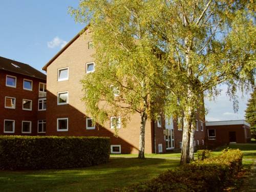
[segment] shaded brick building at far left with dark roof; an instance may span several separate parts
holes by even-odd
[[[45,135],[46,75],[0,57],[0,135]]]

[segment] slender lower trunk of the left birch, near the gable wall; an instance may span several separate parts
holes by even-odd
[[[145,111],[143,111],[140,115],[141,121],[140,121],[140,143],[139,143],[139,155],[138,158],[143,159],[145,158],[145,125],[147,120],[147,114]]]

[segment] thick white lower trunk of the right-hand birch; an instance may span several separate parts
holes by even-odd
[[[181,157],[180,165],[189,163],[189,141],[190,141],[190,129],[189,121],[187,118],[184,118],[184,127],[182,134],[182,147],[181,147]]]

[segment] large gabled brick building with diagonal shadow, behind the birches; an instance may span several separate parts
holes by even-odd
[[[126,127],[119,124],[118,137],[114,137],[112,121],[122,117],[109,117],[104,124],[92,125],[92,119],[84,113],[86,106],[80,80],[94,71],[91,32],[77,34],[43,68],[47,71],[48,110],[47,135],[57,136],[106,136],[111,138],[112,153],[137,153],[139,146],[140,115],[133,114]],[[166,123],[169,122],[169,123]],[[180,123],[181,124],[181,123]],[[198,119],[196,145],[204,144],[204,119]],[[148,119],[145,127],[145,153],[164,153],[180,148],[182,126],[173,119]]]

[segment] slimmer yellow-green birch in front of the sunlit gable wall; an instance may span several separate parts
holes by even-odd
[[[152,53],[143,8],[140,1],[81,1],[72,10],[77,20],[90,22],[93,32],[96,68],[82,80],[87,113],[94,123],[121,116],[124,126],[139,113],[139,158],[144,158],[146,121],[157,118],[165,94],[155,86],[163,78],[162,61]]]

